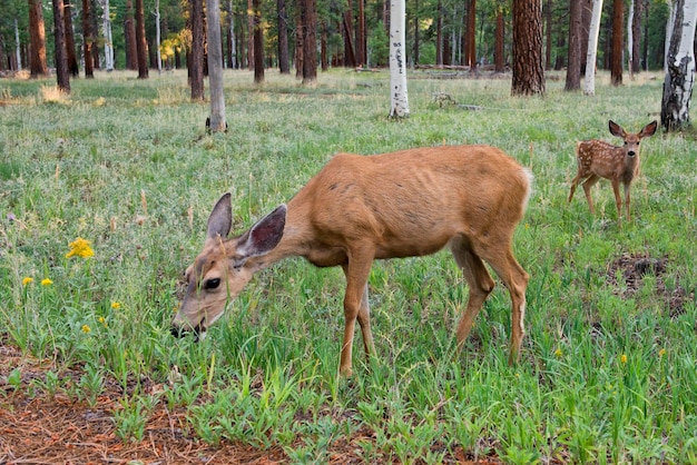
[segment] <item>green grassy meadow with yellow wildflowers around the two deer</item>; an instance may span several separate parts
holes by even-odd
[[[567,202],[576,140],[619,145],[608,119],[628,131],[659,119],[662,76],[612,88],[600,75],[585,97],[559,75],[543,98],[513,98],[508,79],[413,71],[411,117],[394,121],[386,71],[334,70],[312,89],[226,72],[229,130],[215,135],[184,71],[98,73],[69,97],[52,80],[0,79],[0,345],[52,360],[30,380],[11,367],[0,405],[13,389],[94,405],[115,382],[124,442],[144,439],[164,406],[186,412],[189,437],[281,447],[291,463],[327,463],[346,443],[364,463],[697,463],[694,133],[642,141],[631,222],[618,227],[607,180],[596,216],[581,188]],[[375,263],[377,356],[365,359],[357,332],[351,379],[337,375],[343,274],[302,259],[259,274],[204,343],[170,335],[222,194],[240,233],[336,152],[463,142],[534,174],[513,246],[531,276],[517,366],[498,280],[455,353],[467,286],[448,251]]]

